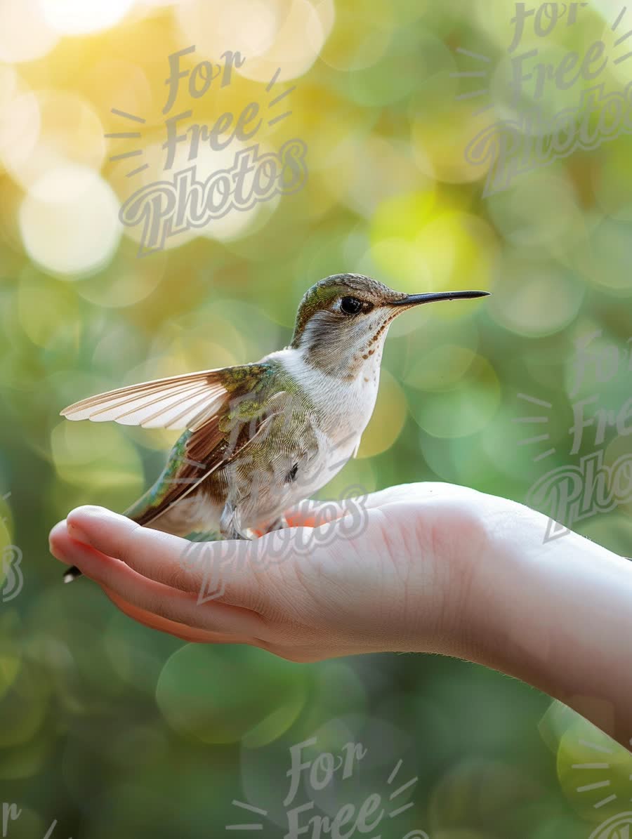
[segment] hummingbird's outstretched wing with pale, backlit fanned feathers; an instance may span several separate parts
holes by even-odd
[[[233,376],[250,378],[246,371],[252,367],[261,365],[203,370],[117,388],[81,399],[61,411],[61,416],[143,428],[190,428],[212,417],[226,399]]]

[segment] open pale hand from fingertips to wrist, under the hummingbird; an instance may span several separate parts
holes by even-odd
[[[222,569],[223,593],[209,602],[198,602],[204,565],[183,561],[191,542],[104,508],[73,510],[51,531],[50,550],[131,618],[186,641],[253,644],[303,662],[377,651],[467,655],[473,569],[491,548],[494,522],[498,529],[526,508],[446,483],[390,487],[363,507],[351,538],[348,505],[309,502],[288,513],[290,533],[203,543]],[[317,534],[306,531],[315,524]],[[262,564],[267,553],[279,559]]]

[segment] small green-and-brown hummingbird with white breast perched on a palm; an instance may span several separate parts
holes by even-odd
[[[287,526],[285,511],[358,453],[392,321],[420,304],[487,294],[404,294],[362,274],[333,274],[304,294],[288,347],[100,393],[61,416],[182,430],[158,480],[123,514],[177,536],[250,539]],[[80,574],[71,568],[64,580]]]

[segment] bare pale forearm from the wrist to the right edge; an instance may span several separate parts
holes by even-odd
[[[473,571],[467,657],[556,697],[629,748],[632,565],[577,534],[545,543],[537,516],[500,534]]]

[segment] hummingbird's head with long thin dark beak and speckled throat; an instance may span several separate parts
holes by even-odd
[[[365,364],[379,366],[384,339],[397,315],[421,303],[484,297],[487,291],[403,294],[362,274],[333,274],[307,289],[290,347],[313,367],[355,378]]]

